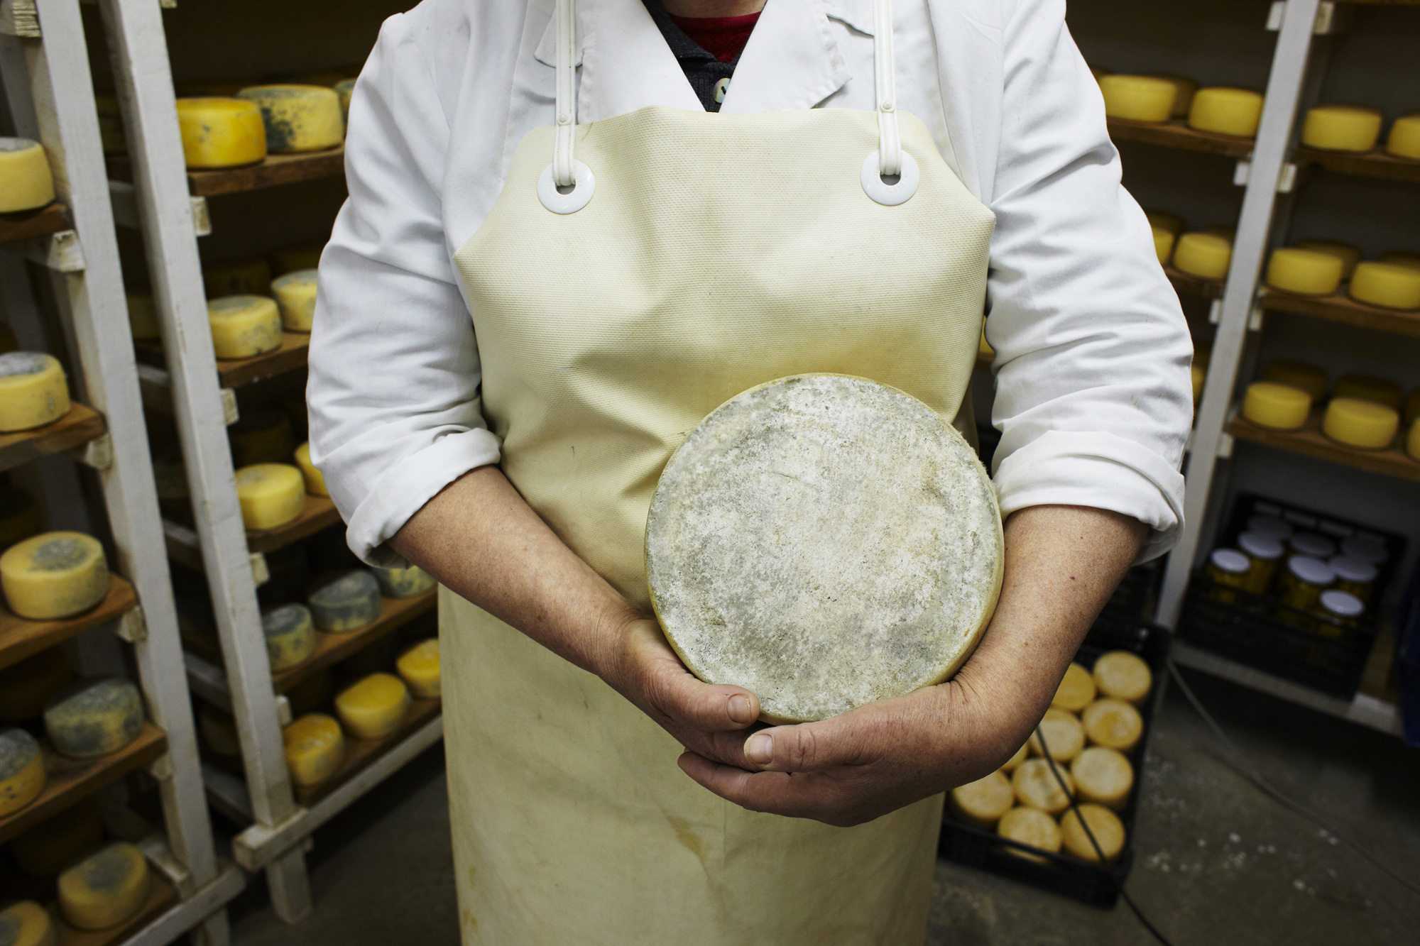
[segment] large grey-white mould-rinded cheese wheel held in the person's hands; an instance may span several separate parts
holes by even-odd
[[[716,408],[660,474],[652,604],[707,682],[765,722],[825,719],[950,676],[1001,585],[1001,517],[976,452],[927,405],[795,375]]]

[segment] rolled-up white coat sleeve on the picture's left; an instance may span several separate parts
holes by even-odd
[[[321,256],[307,403],[311,460],[375,565],[383,543],[463,473],[498,462],[479,349],[449,260],[440,182],[449,121],[403,16],[351,99],[349,199]]]

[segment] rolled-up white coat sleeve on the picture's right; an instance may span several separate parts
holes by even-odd
[[[1133,516],[1150,528],[1143,561],[1167,551],[1183,521],[1189,327],[1120,185],[1064,0],[1022,0],[1003,65],[985,322],[1001,513],[1069,504]]]

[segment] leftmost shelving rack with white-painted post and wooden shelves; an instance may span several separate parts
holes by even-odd
[[[95,470],[115,572],[106,598],[77,618],[0,614],[0,666],[91,628],[112,628],[132,646],[151,720],[133,743],[101,759],[47,757],[44,793],[0,820],[0,841],[146,770],[165,818],[165,831],[141,841],[155,868],[155,893],[138,916],[85,935],[85,942],[158,946],[192,932],[197,942],[220,946],[227,942],[226,903],[246,879],[216,857],[203,798],[78,0],[3,0],[0,77],[16,132],[45,146],[58,192],[50,207],[0,220],[0,291],[16,335],[43,349],[34,264],[53,288],[65,357],[78,368],[71,371],[70,415],[0,436],[0,469],[48,463],[45,457],[67,452]],[[51,517],[85,516],[71,464],[48,463],[44,479]]]

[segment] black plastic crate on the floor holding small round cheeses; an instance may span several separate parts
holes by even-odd
[[[991,831],[954,821],[950,808],[941,817],[941,837],[937,842],[939,857],[1030,884],[1091,906],[1106,909],[1115,906],[1119,901],[1119,888],[1129,876],[1135,862],[1135,817],[1139,812],[1139,795],[1143,790],[1145,754],[1149,736],[1153,733],[1154,707],[1159,705],[1159,693],[1167,673],[1169,631],[1149,624],[1136,624],[1125,631],[1108,624],[1096,624],[1076,652],[1075,660],[1092,668],[1099,655],[1106,651],[1137,653],[1149,663],[1154,680],[1149,699],[1139,707],[1145,723],[1143,736],[1139,737],[1139,744],[1126,753],[1129,763],[1135,767],[1135,790],[1129,794],[1125,810],[1119,812],[1119,820],[1125,825],[1125,847],[1119,852],[1119,858],[1113,864],[1099,865],[1068,854],[1049,854],[1039,848],[1008,841]],[[1008,848],[1042,858],[1044,862],[1017,857]]]

